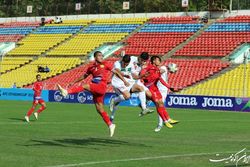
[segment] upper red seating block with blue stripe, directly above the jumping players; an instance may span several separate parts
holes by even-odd
[[[187,20],[182,23],[176,21],[181,18]],[[202,26],[202,24],[193,23],[191,17],[152,18],[150,23],[144,24],[139,32],[127,39],[127,46],[121,50],[131,55],[139,55],[141,52],[164,55],[192,36]],[[119,54],[121,50],[116,54]]]

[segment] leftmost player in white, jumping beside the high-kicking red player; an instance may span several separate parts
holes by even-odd
[[[137,84],[137,81],[133,78],[132,74],[134,69],[134,63],[131,62],[131,57],[129,55],[124,55],[122,60],[116,61],[114,64],[114,69],[121,72],[125,80],[129,83],[130,86],[125,86],[124,82],[118,78],[116,75],[112,77],[111,84],[118,95],[115,98],[112,98],[110,101],[110,111],[111,111],[111,120],[113,121],[115,116],[115,111],[120,102],[127,100],[131,97],[131,93],[138,92],[139,99],[141,101],[141,106],[143,112],[151,112],[146,107],[146,92],[143,85]]]

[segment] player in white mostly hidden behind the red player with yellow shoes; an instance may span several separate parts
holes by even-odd
[[[161,78],[165,81],[168,82],[168,69],[165,65],[160,67],[160,72],[161,72]],[[164,85],[162,85],[162,83],[160,81],[158,81],[157,83],[157,87],[159,89],[159,91],[161,92],[162,95],[162,101],[165,104],[166,102],[166,98],[168,95],[168,88],[165,87]],[[158,122],[158,126],[155,128],[155,132],[159,132],[163,126],[163,120],[161,119],[160,116],[158,116],[159,118],[159,122]]]

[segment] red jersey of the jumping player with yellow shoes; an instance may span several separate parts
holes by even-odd
[[[143,78],[144,85],[146,87],[150,87],[152,85],[157,85],[157,82],[160,81],[164,86],[167,88],[170,88],[170,85],[167,84],[162,78],[161,78],[161,72],[160,69],[152,64],[148,64],[148,66],[144,69],[142,69],[141,74],[149,73],[149,75],[145,76]]]

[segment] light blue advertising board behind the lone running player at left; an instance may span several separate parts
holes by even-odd
[[[0,89],[0,100],[33,100],[34,91],[31,89],[19,89],[19,88],[3,88]],[[44,101],[49,101],[49,91],[42,91],[42,98]]]

